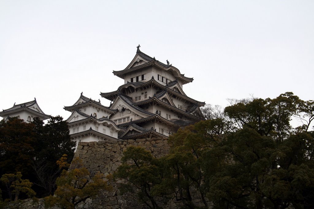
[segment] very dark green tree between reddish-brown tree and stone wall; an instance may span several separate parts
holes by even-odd
[[[36,174],[35,185],[41,190],[42,196],[53,194],[56,190],[56,180],[61,169],[56,161],[67,155],[68,163],[74,156],[75,143],[70,140],[66,121],[60,116],[51,117],[46,125],[39,118],[34,118],[36,144],[34,144],[35,157],[32,168]]]

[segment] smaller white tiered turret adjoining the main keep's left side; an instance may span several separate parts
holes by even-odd
[[[78,142],[106,141],[118,139],[124,129],[118,128],[109,117],[116,110],[109,109],[91,98],[83,96],[72,106],[64,107],[72,112],[67,119],[71,140]]]

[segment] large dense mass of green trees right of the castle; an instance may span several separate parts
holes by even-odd
[[[127,171],[118,175],[126,180],[124,187],[149,182],[151,190],[163,188],[187,208],[208,208],[209,202],[213,208],[314,208],[313,101],[286,92],[274,99],[231,101],[224,110],[208,106],[203,111],[208,120],[169,138],[171,150],[162,164],[147,154],[149,163],[140,166],[147,172],[141,174],[149,175],[152,165],[156,174],[163,171],[155,184],[147,178],[135,182],[133,170],[138,166],[127,158],[131,161],[124,161],[118,171]],[[293,128],[292,118],[303,125]],[[194,202],[193,189],[201,204]]]

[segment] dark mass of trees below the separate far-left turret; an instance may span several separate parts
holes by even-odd
[[[20,172],[33,183],[38,197],[52,194],[60,175],[56,161],[63,154],[73,158],[75,142],[70,140],[67,123],[51,117],[48,123],[39,118],[25,123],[19,118],[0,122],[0,176]],[[3,188],[3,185],[2,187]],[[3,197],[8,194],[3,190]]]

